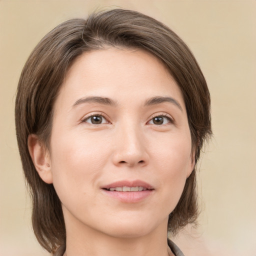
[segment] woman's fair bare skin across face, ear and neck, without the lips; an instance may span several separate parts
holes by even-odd
[[[88,96],[114,104],[84,102]],[[175,101],[145,104],[159,96]],[[95,115],[101,123],[93,123]],[[43,150],[33,134],[28,146],[62,203],[66,255],[173,255],[168,214],[194,161],[182,94],[157,58],[111,47],[83,53],[57,96],[50,148]],[[139,201],[123,202],[102,189],[137,179],[153,187]]]

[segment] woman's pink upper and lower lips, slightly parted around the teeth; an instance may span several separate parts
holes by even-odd
[[[134,192],[123,192],[123,191],[110,191],[107,190],[110,187],[117,187],[117,186],[143,186],[147,190],[142,191],[134,191]],[[116,200],[119,200],[120,202],[125,203],[135,203],[140,202],[146,199],[148,196],[150,196],[154,192],[154,188],[152,185],[148,184],[147,182],[144,182],[142,180],[120,180],[116,181],[110,184],[103,185],[101,188],[101,191]]]

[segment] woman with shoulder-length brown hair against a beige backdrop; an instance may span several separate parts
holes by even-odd
[[[185,43],[113,9],[50,31],[22,70],[15,122],[39,243],[54,255],[183,255],[195,165],[211,134],[205,79]]]

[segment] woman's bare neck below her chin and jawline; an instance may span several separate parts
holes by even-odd
[[[167,223],[136,236],[113,236],[80,223],[66,223],[66,251],[64,256],[172,256],[167,245]]]

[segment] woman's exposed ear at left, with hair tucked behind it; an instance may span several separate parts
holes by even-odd
[[[35,134],[28,135],[27,146],[37,173],[44,182],[51,184],[52,172],[48,150]]]

